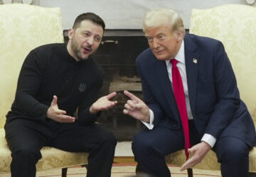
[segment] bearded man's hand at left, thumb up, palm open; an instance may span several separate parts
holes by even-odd
[[[53,101],[50,103],[50,108],[48,108],[46,117],[57,122],[75,122],[75,118],[69,115],[65,115],[65,110],[60,110],[57,104],[57,96],[53,96]]]

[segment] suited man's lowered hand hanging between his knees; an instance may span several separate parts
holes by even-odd
[[[190,154],[193,154],[193,156],[191,157],[191,159],[188,159],[188,161],[186,161],[183,166],[181,166],[181,171],[195,166],[196,164],[201,162],[203,160],[203,157],[206,156],[210,149],[210,145],[206,142],[198,143],[195,146],[191,147],[191,149],[188,149],[188,152]]]

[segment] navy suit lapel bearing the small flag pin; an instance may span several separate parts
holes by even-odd
[[[196,44],[191,38],[184,38],[185,44],[185,60],[186,60],[186,76],[188,82],[188,96],[192,113],[196,109],[196,86],[198,81],[198,64],[199,55],[196,53]]]

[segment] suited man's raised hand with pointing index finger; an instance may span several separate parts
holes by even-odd
[[[124,114],[128,114],[137,120],[142,120],[144,122],[149,122],[149,107],[137,96],[134,96],[129,91],[124,91],[124,94],[131,98],[124,105]]]

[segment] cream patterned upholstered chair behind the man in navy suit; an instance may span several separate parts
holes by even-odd
[[[205,10],[193,9],[190,33],[223,42],[238,80],[240,97],[245,101],[256,125],[256,8],[228,4]],[[170,164],[180,166],[183,152],[166,156]],[[219,170],[213,152],[194,166],[195,169]],[[250,175],[256,175],[256,147],[250,151]]]

